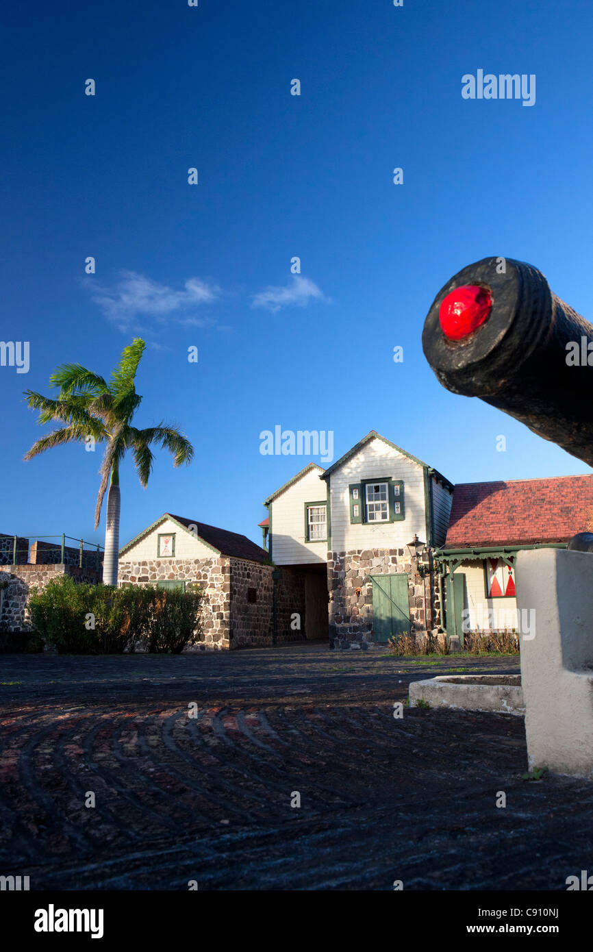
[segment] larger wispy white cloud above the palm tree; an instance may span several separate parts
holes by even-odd
[[[200,278],[188,278],[183,289],[176,290],[136,271],[122,271],[120,280],[110,288],[93,283],[91,297],[109,321],[128,330],[138,318],[152,318],[158,324],[173,321],[210,327],[214,321],[190,312],[216,301],[219,294],[219,288]]]

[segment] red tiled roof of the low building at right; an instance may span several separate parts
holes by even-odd
[[[567,542],[592,518],[593,475],[460,483],[444,548]]]

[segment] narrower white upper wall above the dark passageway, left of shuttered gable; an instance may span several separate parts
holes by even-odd
[[[270,504],[272,559],[276,565],[326,562],[327,542],[305,541],[305,504],[326,499],[320,470],[312,469]]]

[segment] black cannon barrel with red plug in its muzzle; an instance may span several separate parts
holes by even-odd
[[[472,295],[478,304],[464,311]],[[464,325],[467,310],[480,316]],[[480,397],[593,466],[593,326],[537,268],[499,257],[459,271],[434,299],[422,343],[447,390]]]

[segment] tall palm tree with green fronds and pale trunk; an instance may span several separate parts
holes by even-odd
[[[37,440],[25,455],[26,460],[65,443],[88,444],[91,439],[94,443],[106,445],[99,470],[101,485],[95,506],[95,529],[99,526],[101,507],[109,486],[103,563],[103,581],[107,585],[117,585],[119,467],[126,451],[132,450],[138,478],[145,487],[154,462],[150,446],[163,446],[173,453],[173,466],[190,463],[193,456],[193,446],[176,426],[160,423],[137,429],[131,425],[142,401],[136,393],[134,379],[145,347],[144,341],[136,337],[129,347],[124,348],[109,384],[80,364],[63,364],[49,377],[50,386],[60,388],[57,398],[44,397],[33,390],[25,391],[31,409],[39,410],[39,424],[51,421],[66,424]]]

